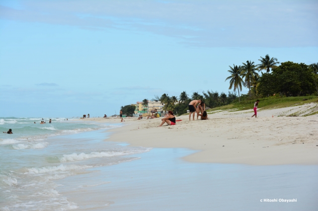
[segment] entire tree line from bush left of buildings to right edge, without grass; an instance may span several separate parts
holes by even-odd
[[[268,97],[274,94],[279,94],[281,97],[290,96],[306,96],[318,94],[318,63],[306,65],[304,63],[294,63],[291,61],[280,63],[277,58],[270,57],[268,54],[265,57],[258,59],[259,64],[254,61],[247,60],[242,65],[229,66],[230,76],[225,81],[230,80],[228,95],[224,92],[220,94],[216,91],[207,90],[199,94],[192,93],[189,96],[183,91],[179,97],[168,96],[163,94],[160,97],[155,96],[152,101],[160,101],[164,104],[162,110],[171,110],[174,113],[181,115],[186,113],[188,105],[192,100],[201,99],[206,107],[217,107],[240,102],[240,91],[242,87],[248,89],[249,99]],[[278,64],[280,64],[278,66]],[[264,73],[262,71],[265,71]],[[237,96],[238,91],[239,96]],[[148,106],[148,100],[143,100],[143,105]],[[124,114],[133,113],[136,106],[122,106]]]

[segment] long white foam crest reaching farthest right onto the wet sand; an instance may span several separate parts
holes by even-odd
[[[76,154],[73,153],[71,155],[63,155],[62,158],[60,158],[61,162],[67,162],[67,161],[75,161],[75,160],[83,160],[83,159],[89,159],[89,158],[103,158],[103,157],[114,157],[114,156],[126,156],[126,155],[132,155],[137,153],[145,153],[149,152],[150,148],[140,148],[135,149],[131,151],[120,151],[120,152],[92,152],[89,154],[80,153]]]

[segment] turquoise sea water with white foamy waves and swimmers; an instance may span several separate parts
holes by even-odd
[[[0,117],[0,210],[76,209],[56,190],[58,180],[150,151],[104,142],[105,130],[121,124],[65,119]],[[13,134],[2,133],[8,129]]]

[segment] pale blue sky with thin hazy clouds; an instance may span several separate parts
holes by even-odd
[[[317,0],[0,0],[0,117],[227,94],[229,65],[318,62],[317,11]]]

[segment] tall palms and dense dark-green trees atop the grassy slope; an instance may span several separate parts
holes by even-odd
[[[229,89],[239,93],[244,86],[248,88],[249,98],[252,95],[257,98],[274,94],[282,97],[318,94],[318,63],[306,65],[287,61],[280,64],[277,58],[270,58],[268,54],[258,60],[260,64],[257,65],[254,61],[246,61],[239,66],[229,66],[231,75],[225,80],[230,80]]]

